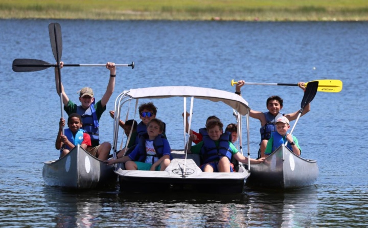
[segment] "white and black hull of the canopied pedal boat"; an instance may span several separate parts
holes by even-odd
[[[185,168],[184,168],[185,167]],[[174,158],[165,171],[124,170],[119,164],[120,190],[124,192],[157,192],[190,190],[208,193],[241,193],[249,176],[243,166],[235,173],[202,172],[193,159]]]

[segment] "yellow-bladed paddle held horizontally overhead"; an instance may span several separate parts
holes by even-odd
[[[319,92],[330,92],[330,93],[338,93],[342,89],[342,81],[336,79],[321,79],[321,80],[314,80],[305,83],[305,86],[308,87],[308,84],[311,82],[318,82],[318,89]],[[234,79],[231,81],[231,85],[234,86],[238,84],[237,81]],[[259,82],[245,82],[245,85],[288,85],[288,86],[297,86],[297,84],[287,84],[287,83],[259,83]]]

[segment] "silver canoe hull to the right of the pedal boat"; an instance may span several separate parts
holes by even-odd
[[[247,184],[272,189],[300,189],[314,185],[317,177],[315,160],[297,156],[282,145],[263,163],[250,166]]]

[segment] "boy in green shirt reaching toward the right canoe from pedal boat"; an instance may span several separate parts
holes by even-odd
[[[222,133],[223,124],[218,120],[212,120],[206,124],[208,136],[203,136],[203,141],[192,146],[191,152],[200,154],[202,158],[201,170],[203,172],[233,172],[230,165],[232,157],[241,163],[247,163],[248,158],[228,141],[229,132]],[[262,163],[264,158],[258,160],[250,158],[250,164]]]

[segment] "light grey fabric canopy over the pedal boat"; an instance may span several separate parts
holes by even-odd
[[[170,98],[170,97],[194,97],[196,99],[210,100],[213,102],[223,102],[241,115],[247,115],[250,108],[241,96],[224,90],[203,88],[195,86],[158,86],[147,88],[136,88],[124,91],[124,96],[132,99],[141,98]]]

